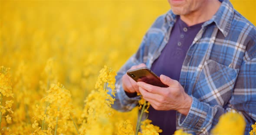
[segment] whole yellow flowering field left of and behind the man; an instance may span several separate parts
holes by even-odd
[[[232,3],[256,25],[255,0]],[[130,125],[135,130],[138,107],[126,113],[111,109],[104,102],[109,97],[94,94],[104,83],[95,84],[101,69],[115,75],[168,10],[167,0],[1,0],[0,133],[118,134]]]

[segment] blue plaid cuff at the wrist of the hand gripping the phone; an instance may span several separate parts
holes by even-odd
[[[208,104],[200,102],[197,98],[192,97],[192,105],[187,116],[181,113],[177,114],[178,125],[193,131],[203,132],[205,130],[205,125],[207,121],[212,120],[211,118],[211,108]]]

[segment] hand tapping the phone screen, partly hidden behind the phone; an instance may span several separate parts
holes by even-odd
[[[139,65],[132,66],[129,70],[136,69],[139,67],[146,67],[146,64],[142,63]],[[137,82],[135,80],[131,79],[131,77],[129,77],[127,74],[123,75],[122,83],[123,83],[123,88],[127,93],[130,93],[130,94],[140,93]]]

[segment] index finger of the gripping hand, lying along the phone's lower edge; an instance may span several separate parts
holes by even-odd
[[[143,89],[147,90],[150,93],[155,93],[155,94],[160,94],[160,95],[166,94],[165,89],[167,89],[167,88],[154,86],[154,85],[151,85],[151,84],[144,83],[142,81],[137,82],[137,85],[139,87],[142,87]]]

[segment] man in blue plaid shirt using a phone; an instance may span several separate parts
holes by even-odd
[[[168,0],[137,53],[116,77],[115,109],[129,111],[141,93],[148,119],[163,134],[177,129],[209,134],[228,109],[256,121],[256,28],[228,0]],[[126,71],[151,68],[169,87],[136,83]],[[177,115],[176,115],[177,113]],[[236,127],[234,127],[236,128]]]

